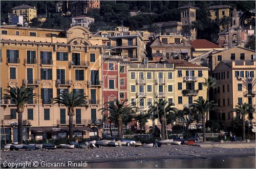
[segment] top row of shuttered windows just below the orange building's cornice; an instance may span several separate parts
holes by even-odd
[[[8,63],[17,63],[15,62],[19,58],[19,50],[6,50]],[[56,53],[57,61],[68,61],[68,52],[57,52]],[[80,53],[72,53],[72,61],[74,65],[80,65]],[[35,64],[36,59],[36,51],[27,50],[27,63]],[[40,59],[42,64],[50,64],[49,62],[52,60],[52,52],[51,51],[40,51]],[[96,54],[90,53],[90,62],[96,61]]]

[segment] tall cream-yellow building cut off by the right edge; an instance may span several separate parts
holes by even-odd
[[[238,103],[248,103],[256,108],[255,101],[255,60],[221,61],[212,75],[217,78],[219,88],[214,91],[214,100],[219,104],[220,111],[212,116],[222,120],[225,126],[237,117],[230,112]],[[255,114],[250,120],[255,132]]]

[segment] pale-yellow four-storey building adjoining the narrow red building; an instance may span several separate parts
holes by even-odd
[[[130,64],[127,75],[128,100],[142,113],[158,99],[165,99],[183,109],[199,97],[206,98],[206,88],[202,85],[204,77],[208,77],[207,67],[184,61],[134,62]],[[152,121],[149,120],[147,125],[151,126]]]

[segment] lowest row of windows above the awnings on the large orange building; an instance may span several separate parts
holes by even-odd
[[[10,109],[12,119],[17,119],[16,108]],[[34,109],[28,108],[28,120],[34,120]],[[76,124],[81,124],[81,109],[76,108]],[[50,108],[44,109],[44,120],[50,120]],[[96,120],[96,109],[91,109],[91,120]],[[66,109],[60,108],[60,124],[66,124]]]

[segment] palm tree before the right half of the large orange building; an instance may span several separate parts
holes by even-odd
[[[53,104],[63,104],[68,108],[69,116],[69,138],[73,138],[73,117],[75,116],[75,107],[84,104],[86,96],[79,92],[60,92],[57,97],[53,98]]]

